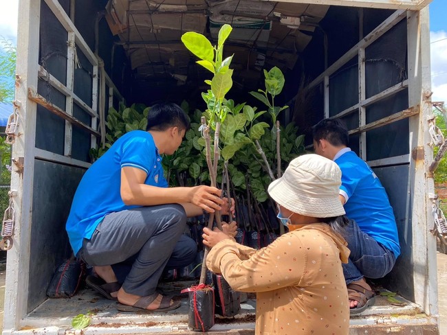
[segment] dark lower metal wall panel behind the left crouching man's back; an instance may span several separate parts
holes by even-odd
[[[28,312],[46,298],[56,267],[70,257],[65,221],[85,170],[34,161]]]

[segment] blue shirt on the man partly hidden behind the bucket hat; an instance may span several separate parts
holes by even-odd
[[[346,216],[377,242],[400,255],[393,208],[386,191],[371,167],[355,152],[344,152],[334,160],[342,170],[340,194],[347,198]]]

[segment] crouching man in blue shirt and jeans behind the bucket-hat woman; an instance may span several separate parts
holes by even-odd
[[[312,128],[316,154],[331,159],[342,171],[340,201],[350,223],[342,235],[351,250],[342,264],[351,314],[373,305],[374,292],[364,277],[382,278],[400,255],[393,209],[371,167],[348,147],[348,130],[339,119],[323,119]]]

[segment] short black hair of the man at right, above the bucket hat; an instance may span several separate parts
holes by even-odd
[[[349,146],[348,129],[340,119],[323,119],[312,127],[312,137],[318,142],[325,139],[332,146]]]

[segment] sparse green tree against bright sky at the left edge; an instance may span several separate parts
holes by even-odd
[[[11,41],[0,40],[0,102],[14,100],[14,76],[17,49]]]

